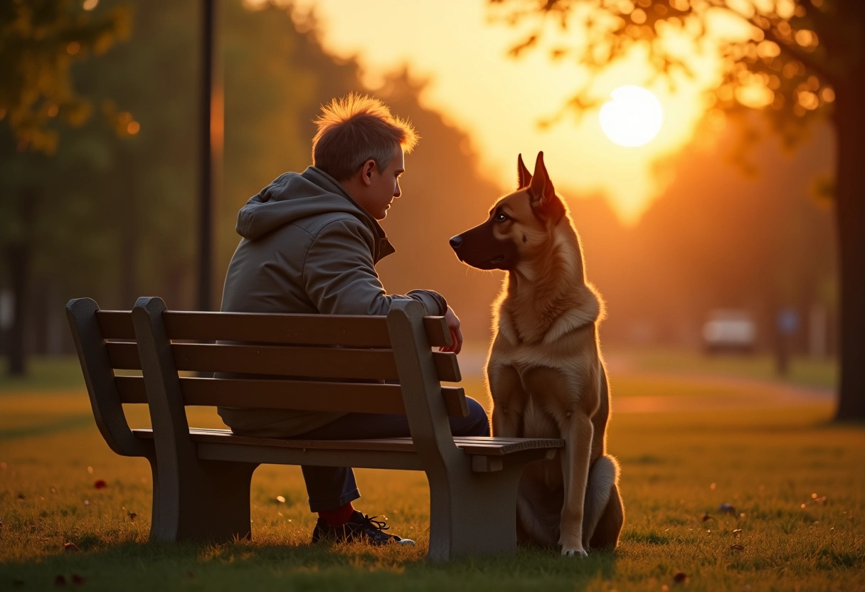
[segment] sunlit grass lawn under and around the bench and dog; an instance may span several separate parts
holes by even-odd
[[[641,389],[619,378],[631,396]],[[413,549],[311,547],[300,472],[274,466],[253,477],[252,541],[147,544],[146,461],[108,449],[83,388],[41,380],[0,385],[0,589],[54,589],[58,576],[74,588],[77,576],[94,590],[865,591],[865,428],[830,425],[829,402],[615,415],[609,447],[626,509],[617,551],[430,564],[426,478],[413,472],[357,472],[357,506],[415,538]],[[467,388],[485,400],[482,383]],[[146,409],[130,415],[147,423]],[[219,423],[202,411],[190,422]]]

